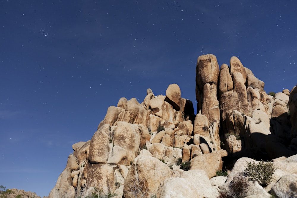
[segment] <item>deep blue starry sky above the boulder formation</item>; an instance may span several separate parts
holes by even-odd
[[[72,144],[121,97],[177,83],[196,109],[198,56],[237,56],[265,91],[297,83],[296,1],[0,1],[0,185],[47,196]]]

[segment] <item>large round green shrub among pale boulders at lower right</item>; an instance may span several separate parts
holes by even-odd
[[[257,164],[248,162],[244,172],[251,180],[257,181],[261,186],[266,187],[274,178],[273,173],[275,170],[273,162],[261,160]]]

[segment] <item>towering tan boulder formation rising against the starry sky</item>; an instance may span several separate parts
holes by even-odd
[[[268,95],[237,57],[219,67],[208,54],[197,60],[196,100],[195,115],[176,84],[165,96],[148,89],[141,103],[121,98],[91,140],[72,145],[49,197],[96,189],[126,198],[217,197],[251,158],[273,160],[277,170],[266,188],[249,185],[249,196],[288,194],[297,182],[297,88]],[[176,165],[179,158],[191,162],[189,171]],[[228,177],[214,177],[223,168]]]

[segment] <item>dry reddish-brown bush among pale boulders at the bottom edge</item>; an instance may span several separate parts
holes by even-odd
[[[228,189],[219,192],[219,198],[244,198],[247,196],[247,187],[247,178],[240,174],[230,182]]]

